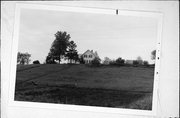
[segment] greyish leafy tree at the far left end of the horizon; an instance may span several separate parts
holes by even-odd
[[[18,64],[29,64],[29,62],[31,61],[30,60],[30,57],[31,57],[31,54],[29,53],[21,53],[21,52],[18,52],[18,55],[17,55],[17,63]]]

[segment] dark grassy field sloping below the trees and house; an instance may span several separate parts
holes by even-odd
[[[18,65],[15,100],[103,107],[152,107],[154,69]]]

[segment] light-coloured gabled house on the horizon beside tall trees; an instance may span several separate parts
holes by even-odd
[[[99,58],[97,51],[93,52],[93,50],[87,50],[81,56],[84,59],[85,64],[89,64],[93,59]]]

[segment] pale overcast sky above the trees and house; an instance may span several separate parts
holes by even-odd
[[[97,51],[101,60],[133,60],[141,56],[153,63],[156,49],[157,21],[140,16],[24,9],[20,16],[19,52],[31,54],[31,63],[45,62],[54,34],[66,31],[77,44],[79,54]]]

